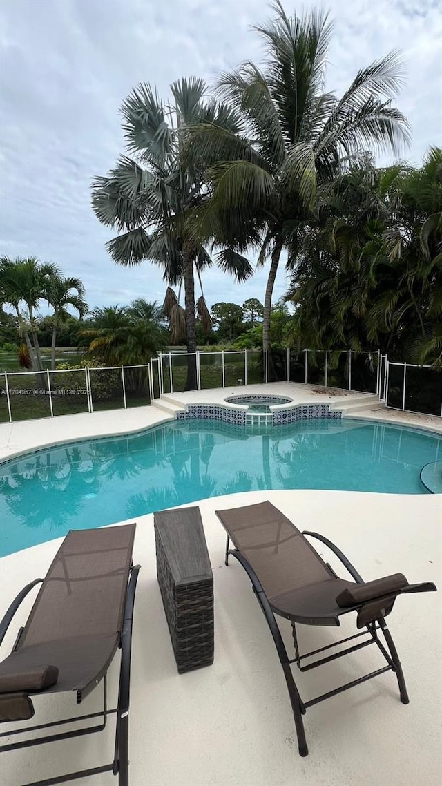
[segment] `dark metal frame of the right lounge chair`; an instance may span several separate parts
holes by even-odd
[[[311,532],[311,531],[303,531],[303,535],[309,535],[311,538],[315,538],[322,543],[324,543],[332,552],[337,556],[344,567],[347,569],[348,573],[352,576],[357,584],[364,584],[363,578],[359,575],[358,571],[356,571],[355,567],[353,567],[352,563],[348,560],[348,558],[341,552],[341,549],[338,549],[337,545],[335,545],[332,541],[328,538],[324,538],[323,535],[319,534],[318,532]],[[291,619],[292,623],[292,630],[293,630],[293,644],[295,649],[295,657],[289,658],[287,650],[285,648],[284,641],[282,640],[281,631],[279,630],[278,623],[275,619],[275,613],[278,616],[284,616],[276,609],[272,608],[270,602],[268,601],[267,595],[263,590],[263,586],[261,585],[260,579],[257,577],[255,571],[253,571],[252,566],[249,564],[248,560],[245,559],[245,556],[241,554],[238,549],[230,549],[230,536],[227,535],[227,542],[226,542],[226,553],[225,553],[225,564],[229,564],[229,556],[234,556],[236,560],[244,567],[245,572],[250,578],[252,582],[252,589],[256,595],[256,600],[260,604],[261,611],[266,619],[267,625],[271,631],[271,635],[273,637],[274,645],[278,652],[279,662],[281,663],[282,671],[284,672],[285,682],[287,685],[287,689],[289,691],[289,698],[290,703],[292,706],[293,711],[293,718],[295,722],[295,727],[297,730],[297,740],[298,740],[298,749],[300,756],[307,756],[308,755],[308,745],[305,738],[305,731],[304,731],[304,721],[303,715],[306,714],[306,711],[309,707],[312,707],[315,704],[318,704],[321,701],[325,701],[326,699],[332,698],[332,696],[337,696],[338,693],[344,692],[350,688],[354,688],[355,685],[361,685],[363,682],[370,680],[374,677],[378,677],[380,674],[384,674],[386,671],[392,671],[396,674],[396,678],[398,681],[399,692],[400,692],[400,700],[403,704],[409,703],[409,698],[407,694],[407,687],[405,685],[405,678],[403,677],[403,670],[400,664],[400,659],[397,654],[396,646],[392,640],[392,635],[390,634],[389,628],[385,623],[385,619],[383,617],[379,617],[373,623],[369,623],[366,625],[366,630],[363,630],[359,634],[355,634],[353,636],[348,636],[345,638],[340,639],[339,641],[334,641],[333,644],[326,645],[325,647],[321,647],[319,649],[311,650],[311,652],[304,652],[303,655],[300,654],[300,648],[298,645],[297,640],[297,629],[296,623],[293,619]],[[330,567],[330,565],[328,566]],[[334,572],[334,571],[333,571]],[[348,608],[348,609],[341,609],[341,614],[347,614],[348,612],[355,611],[355,608]],[[325,623],[326,624],[326,623]],[[337,623],[329,622],[329,625],[339,625],[339,620]],[[378,631],[381,630],[383,637],[385,639],[385,645],[380,641],[378,636]],[[352,645],[350,647],[341,650],[340,652],[335,652],[333,655],[325,656],[319,659],[314,660],[312,663],[308,663],[303,665],[302,661],[307,658],[311,658],[312,656],[319,655],[320,652],[325,652],[328,649],[337,647],[337,645],[343,644],[346,641],[352,641],[356,638],[368,636],[368,639],[359,642],[359,644]],[[356,652],[363,647],[368,645],[375,644],[378,646],[378,649],[381,652],[381,655],[384,657],[387,665],[374,670],[370,671],[369,674],[364,674],[363,677],[359,677],[355,680],[345,683],[341,685],[339,688],[335,688],[331,691],[326,693],[322,693],[319,696],[315,696],[315,698],[303,701],[300,697],[300,692],[297,689],[296,682],[293,678],[293,671],[292,671],[292,664],[296,663],[297,667],[300,671],[308,671],[310,669],[315,669],[316,667],[322,666],[324,663],[330,663],[332,660],[336,660],[338,658],[342,658],[345,655],[349,655],[352,652]]]

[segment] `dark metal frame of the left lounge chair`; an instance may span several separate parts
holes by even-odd
[[[99,767],[90,767],[88,769],[77,770],[73,773],[66,773],[65,775],[47,778],[46,780],[33,780],[31,783],[24,784],[24,786],[53,786],[53,784],[64,784],[69,780],[77,780],[82,777],[89,777],[92,775],[99,775],[101,773],[112,772],[113,775],[118,775],[119,786],[128,786],[129,784],[129,701],[130,701],[130,684],[131,684],[131,643],[132,643],[132,623],[134,615],[134,600],[135,590],[137,586],[139,565],[131,565],[130,578],[127,583],[126,600],[123,611],[123,624],[120,634],[120,680],[118,690],[118,700],[116,707],[109,709],[107,706],[107,672],[103,677],[103,708],[101,711],[92,712],[84,715],[76,715],[72,718],[63,718],[59,721],[49,723],[42,723],[38,725],[27,726],[25,729],[13,729],[12,731],[0,733],[0,739],[3,737],[15,736],[17,734],[24,734],[28,732],[40,731],[42,729],[53,729],[57,726],[65,725],[68,723],[76,723],[79,721],[90,720],[91,718],[102,718],[101,723],[88,725],[83,729],[72,729],[68,732],[59,732],[37,736],[31,740],[20,740],[9,744],[0,744],[0,753],[6,751],[17,751],[24,747],[34,747],[37,745],[46,744],[48,742],[57,742],[58,740],[68,740],[71,737],[83,736],[86,734],[93,734],[103,731],[106,726],[108,715],[116,714],[116,729],[115,729],[115,747],[113,761],[109,764],[101,765]],[[24,598],[28,595],[36,584],[43,581],[42,578],[36,578],[35,581],[29,583],[24,589],[20,590],[13,603],[9,606],[6,615],[0,623],[0,645],[12,622],[17,609],[20,607]],[[13,645],[12,652],[17,649],[20,636],[24,628],[21,627],[17,639]],[[112,659],[113,660],[113,659]],[[110,665],[110,664],[109,664]],[[29,692],[29,695],[47,695],[50,689],[42,692]],[[77,692],[77,703],[80,703],[82,696]]]

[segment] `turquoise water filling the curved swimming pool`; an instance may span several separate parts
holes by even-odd
[[[173,421],[0,465],[0,554],[172,505],[256,489],[428,493],[423,465],[442,438],[368,421],[263,428]]]

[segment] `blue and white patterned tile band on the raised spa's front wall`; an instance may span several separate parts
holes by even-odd
[[[274,410],[271,422],[274,426],[280,426],[315,417],[327,417],[337,420],[341,419],[341,416],[341,410],[330,412],[330,404],[297,404],[296,406],[287,407],[285,410]],[[253,413],[252,415],[247,410],[233,410],[222,404],[189,404],[186,412],[176,413],[178,421],[216,420],[239,426],[250,422],[251,417],[256,420],[258,418],[261,420],[262,418],[263,423],[267,422],[270,425],[270,417],[266,413],[263,413],[261,416],[260,413]]]

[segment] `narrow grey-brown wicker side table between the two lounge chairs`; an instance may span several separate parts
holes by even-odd
[[[157,576],[179,673],[213,663],[213,574],[200,509],[153,514]]]

